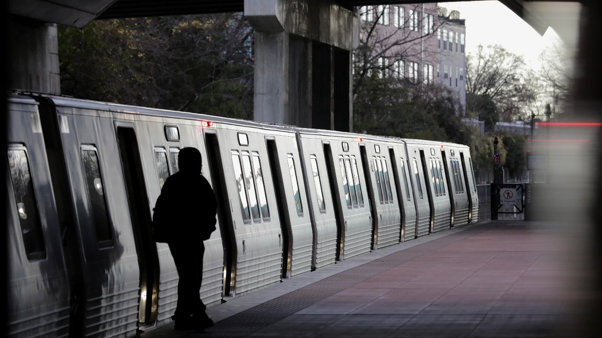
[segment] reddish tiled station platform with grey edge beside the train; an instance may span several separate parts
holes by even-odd
[[[210,306],[205,331],[140,336],[593,336],[583,257],[566,233],[523,220],[446,229]]]

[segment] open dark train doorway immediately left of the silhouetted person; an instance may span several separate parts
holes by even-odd
[[[124,122],[116,122],[115,126],[140,268],[138,325],[144,327],[157,320],[159,258],[152,238],[151,210],[134,126]]]

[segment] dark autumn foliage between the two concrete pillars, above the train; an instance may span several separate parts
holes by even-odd
[[[251,36],[240,13],[61,27],[61,88],[82,99],[252,118]]]

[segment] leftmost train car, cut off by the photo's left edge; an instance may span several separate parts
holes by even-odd
[[[73,294],[38,104],[7,103],[8,335],[68,337]]]

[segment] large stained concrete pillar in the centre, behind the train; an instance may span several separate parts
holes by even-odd
[[[317,0],[245,0],[244,16],[255,29],[253,118],[351,131],[358,16]]]

